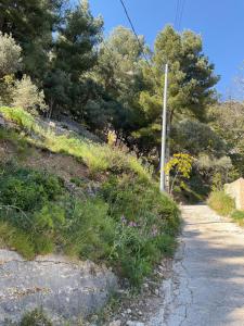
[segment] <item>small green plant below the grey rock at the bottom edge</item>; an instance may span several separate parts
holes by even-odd
[[[35,309],[31,312],[27,312],[18,326],[52,326],[51,321],[46,316],[41,309]]]

